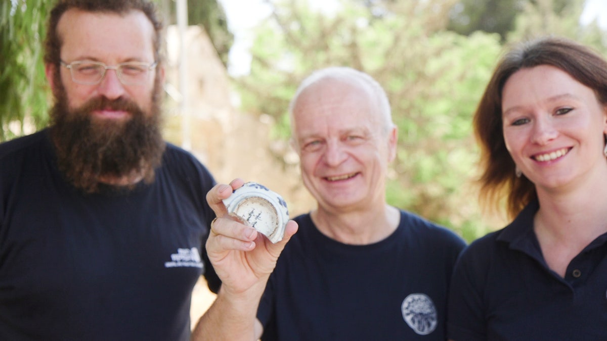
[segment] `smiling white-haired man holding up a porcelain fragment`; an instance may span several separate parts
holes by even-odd
[[[303,81],[290,113],[317,208],[294,218],[298,232],[288,226],[288,243],[277,245],[228,218],[215,222],[206,246],[223,284],[195,337],[445,340],[447,287],[464,241],[387,204],[398,131],[384,90],[365,73],[330,67]],[[228,188],[209,192],[218,215]]]

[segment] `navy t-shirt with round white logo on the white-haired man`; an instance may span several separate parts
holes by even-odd
[[[295,219],[257,318],[262,340],[445,339],[447,287],[464,241],[401,211],[392,235],[346,245]]]

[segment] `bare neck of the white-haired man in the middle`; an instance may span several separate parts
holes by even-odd
[[[374,211],[331,212],[318,208],[311,212],[322,234],[341,243],[367,245],[387,238],[400,222],[397,208],[385,204]]]

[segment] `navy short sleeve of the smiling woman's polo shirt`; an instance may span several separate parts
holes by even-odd
[[[486,340],[481,281],[486,274],[482,271],[482,260],[487,257],[472,246],[464,249],[453,270],[447,305],[447,337],[450,340]]]

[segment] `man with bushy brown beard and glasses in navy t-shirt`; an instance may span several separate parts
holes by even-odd
[[[47,32],[51,124],[0,144],[0,340],[188,340],[214,180],[161,137],[154,6],[59,0]]]

